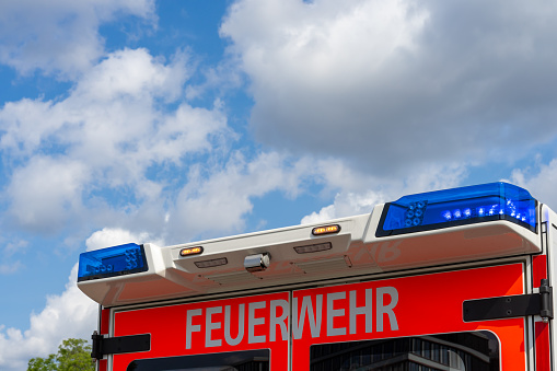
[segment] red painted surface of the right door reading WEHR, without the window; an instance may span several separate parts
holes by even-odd
[[[309,370],[314,344],[480,329],[499,337],[503,370],[523,370],[523,318],[462,318],[464,300],[523,293],[522,277],[514,264],[294,291],[292,370]]]

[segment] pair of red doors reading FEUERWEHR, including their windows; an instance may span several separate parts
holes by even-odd
[[[464,322],[463,302],[523,294],[523,264],[115,311],[150,334],[124,370],[526,370],[525,317]]]

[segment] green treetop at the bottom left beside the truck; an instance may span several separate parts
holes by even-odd
[[[66,339],[56,355],[32,358],[27,371],[94,371],[91,345],[83,339]]]

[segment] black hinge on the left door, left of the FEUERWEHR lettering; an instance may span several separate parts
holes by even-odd
[[[106,355],[119,355],[151,349],[151,334],[104,337],[94,332],[92,358],[103,359]]]

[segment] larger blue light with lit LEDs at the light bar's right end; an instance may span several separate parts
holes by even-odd
[[[385,204],[375,236],[492,220],[508,220],[537,233],[536,206],[527,190],[502,182],[409,195]]]

